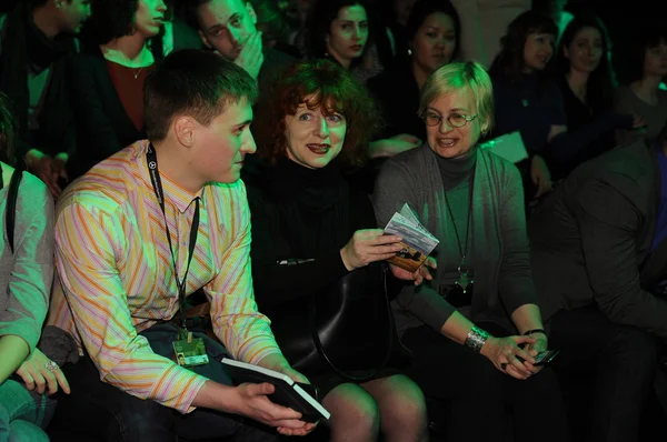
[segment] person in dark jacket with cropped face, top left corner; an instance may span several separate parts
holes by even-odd
[[[24,0],[0,16],[0,92],[17,115],[17,157],[54,198],[76,149],[66,64],[89,16],[89,0]]]

